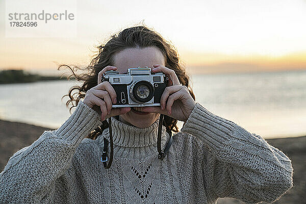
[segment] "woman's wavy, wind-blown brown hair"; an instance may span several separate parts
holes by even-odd
[[[68,67],[72,71],[72,74],[68,77],[68,79],[74,76],[77,81],[84,82],[81,87],[72,86],[69,89],[68,94],[64,95],[69,96],[70,98],[66,103],[67,108],[69,107],[70,103],[72,104],[70,113],[71,109],[79,104],[80,99],[85,97],[86,91],[97,85],[98,73],[106,66],[113,66],[114,54],[125,48],[145,48],[149,46],[155,46],[161,50],[163,56],[165,57],[165,66],[175,71],[180,83],[183,86],[188,87],[192,98],[195,99],[193,91],[189,85],[189,77],[186,74],[185,67],[180,62],[175,47],[167,42],[160,34],[148,29],[146,26],[136,26],[124,29],[117,35],[112,35],[106,44],[97,46],[98,54],[92,59],[91,63],[87,67],[80,68],[78,66],[74,66],[72,69],[70,66],[65,64],[59,66],[58,70],[61,67]],[[78,69],[87,70],[88,73],[76,74],[74,71],[77,71]],[[78,90],[78,92],[72,94],[73,90]],[[75,105],[73,105],[73,101],[75,101]],[[166,127],[167,132],[179,132],[176,123],[176,119],[166,115],[164,116],[163,125]],[[103,121],[103,124],[93,130],[87,136],[87,138],[96,139],[96,137],[99,136],[106,128],[108,128],[108,122],[105,120]]]

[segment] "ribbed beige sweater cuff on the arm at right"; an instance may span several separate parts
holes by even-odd
[[[198,137],[213,149],[218,150],[228,142],[235,127],[237,124],[234,122],[214,115],[196,103],[181,131]]]

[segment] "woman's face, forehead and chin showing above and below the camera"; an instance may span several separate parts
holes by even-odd
[[[150,67],[161,64],[165,66],[165,59],[157,47],[126,48],[114,55],[114,66],[119,73],[126,73],[128,68]],[[148,127],[154,123],[159,113],[141,112],[142,107],[132,108],[130,112],[119,115],[119,120],[137,127]]]

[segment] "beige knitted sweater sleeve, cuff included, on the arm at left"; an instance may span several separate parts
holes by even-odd
[[[0,173],[0,203],[52,200],[56,181],[71,169],[78,145],[100,124],[99,115],[80,101],[59,129],[45,131],[32,145],[10,158]]]

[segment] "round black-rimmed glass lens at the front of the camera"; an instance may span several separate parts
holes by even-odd
[[[139,81],[131,87],[131,98],[137,103],[146,103],[154,96],[154,87],[147,81]]]

